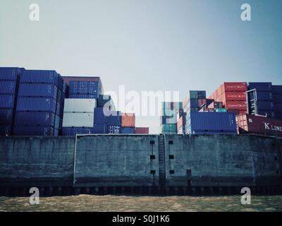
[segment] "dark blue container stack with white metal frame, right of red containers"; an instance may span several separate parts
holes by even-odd
[[[275,117],[271,83],[248,83],[247,109],[249,114]]]

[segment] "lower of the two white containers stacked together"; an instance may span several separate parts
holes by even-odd
[[[93,113],[63,113],[63,127],[92,127]]]

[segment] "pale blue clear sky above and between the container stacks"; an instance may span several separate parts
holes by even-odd
[[[244,3],[251,21],[240,18]],[[228,81],[282,84],[281,24],[281,0],[0,0],[0,66],[100,76],[105,91],[183,100]],[[136,126],[159,133],[159,117]]]

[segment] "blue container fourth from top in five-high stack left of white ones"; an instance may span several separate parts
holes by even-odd
[[[16,126],[54,126],[54,112],[16,112]]]

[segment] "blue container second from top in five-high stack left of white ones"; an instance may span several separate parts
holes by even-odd
[[[53,97],[57,98],[57,88],[54,84],[20,83],[19,97]]]

